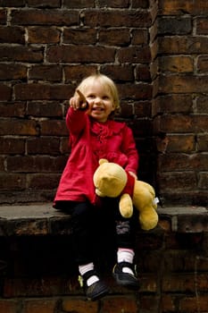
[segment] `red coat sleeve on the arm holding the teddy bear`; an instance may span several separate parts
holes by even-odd
[[[139,156],[133,132],[128,126],[123,130],[122,152],[128,157],[128,164],[125,170],[137,174]]]

